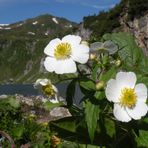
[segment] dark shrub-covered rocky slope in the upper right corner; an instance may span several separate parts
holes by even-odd
[[[90,42],[110,32],[130,32],[148,55],[148,0],[121,0],[109,11],[84,17],[84,28],[92,31]]]

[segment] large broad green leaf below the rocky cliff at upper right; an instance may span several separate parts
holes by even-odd
[[[126,70],[136,70],[139,68],[144,54],[142,49],[138,47],[135,42],[135,39],[129,33],[113,33],[107,34],[103,37],[107,40],[112,40],[116,43],[120,49],[119,56],[123,61],[123,68]]]

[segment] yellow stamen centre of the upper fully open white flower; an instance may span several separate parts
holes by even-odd
[[[71,45],[69,43],[60,43],[56,46],[54,57],[57,60],[64,60],[71,55]]]

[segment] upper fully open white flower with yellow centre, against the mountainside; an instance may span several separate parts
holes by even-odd
[[[81,37],[67,35],[60,40],[53,39],[45,47],[44,53],[48,55],[44,61],[47,71],[57,74],[75,73],[76,63],[85,64],[89,58],[89,47],[81,44]]]

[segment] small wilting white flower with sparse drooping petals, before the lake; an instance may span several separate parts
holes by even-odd
[[[41,90],[41,92],[50,98],[50,102],[52,103],[58,103],[58,90],[57,88],[52,85],[51,81],[49,79],[37,79],[35,84],[35,88],[38,88]]]

